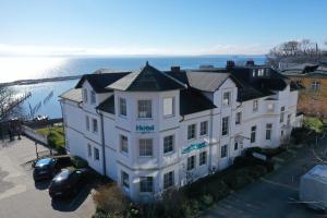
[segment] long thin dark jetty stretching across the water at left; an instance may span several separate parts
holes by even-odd
[[[0,87],[14,86],[14,85],[31,85],[31,84],[47,83],[47,82],[70,81],[70,80],[78,80],[81,77],[82,75],[69,75],[69,76],[58,76],[58,77],[49,77],[49,78],[20,80],[20,81],[13,81],[9,83],[0,83]]]

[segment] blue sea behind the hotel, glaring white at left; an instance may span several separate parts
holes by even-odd
[[[199,65],[225,66],[227,60],[244,64],[254,60],[257,64],[266,61],[265,56],[202,56],[202,57],[110,57],[110,58],[39,58],[39,57],[0,57],[0,83],[17,80],[47,78],[68,75],[83,75],[98,69],[137,70],[146,61],[159,70],[169,70],[172,65],[181,69],[198,69]],[[48,116],[61,118],[61,106],[58,96],[73,88],[77,80],[47,82],[31,85],[11,86],[19,96],[32,93],[32,96],[19,106],[20,116]]]

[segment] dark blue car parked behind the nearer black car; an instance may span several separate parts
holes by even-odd
[[[62,168],[71,166],[70,157],[43,158],[34,162],[35,181],[52,179]]]

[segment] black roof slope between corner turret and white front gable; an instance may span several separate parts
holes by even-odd
[[[182,89],[180,92],[181,116],[201,112],[214,108],[216,108],[216,106],[209,99],[207,99],[201,92],[194,88]]]

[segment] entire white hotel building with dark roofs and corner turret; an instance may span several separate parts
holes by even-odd
[[[149,201],[227,168],[249,147],[279,146],[298,124],[296,89],[253,62],[99,70],[60,96],[66,150],[132,199]]]

